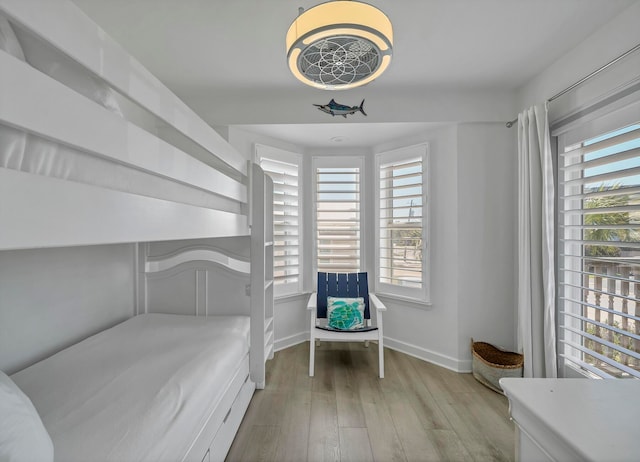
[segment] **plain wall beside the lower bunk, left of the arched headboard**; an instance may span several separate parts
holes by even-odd
[[[0,369],[13,373],[135,313],[134,246],[0,252]]]

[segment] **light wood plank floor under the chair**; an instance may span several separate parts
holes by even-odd
[[[457,374],[378,346],[309,342],[267,363],[227,461],[513,460],[505,397]]]

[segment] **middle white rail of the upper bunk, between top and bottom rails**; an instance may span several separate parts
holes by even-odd
[[[233,201],[247,201],[244,184],[1,52],[0,89],[0,123]]]

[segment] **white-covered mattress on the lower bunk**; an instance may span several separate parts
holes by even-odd
[[[248,351],[247,316],[146,314],[12,379],[56,461],[179,461]]]

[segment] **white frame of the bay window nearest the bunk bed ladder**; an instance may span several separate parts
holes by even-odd
[[[289,282],[289,283],[277,283],[274,281],[274,297],[277,298],[285,298],[289,296],[295,296],[302,293],[303,286],[303,278],[304,278],[304,258],[303,258],[303,243],[304,243],[304,188],[302,187],[302,155],[290,151],[285,151],[280,148],[276,148],[273,146],[268,146],[264,144],[256,143],[254,146],[254,161],[262,167],[262,160],[269,160],[272,162],[282,162],[289,165],[294,165],[298,170],[298,275],[297,281]],[[264,169],[264,168],[263,168]],[[265,170],[265,173],[268,175],[269,172]],[[276,185],[274,183],[274,190],[276,189]],[[274,213],[276,212],[276,207],[274,206]],[[276,217],[274,215],[274,221]],[[275,235],[274,235],[275,241]],[[274,253],[278,251],[278,246],[274,242]],[[275,267],[274,267],[275,270]],[[275,272],[275,271],[274,271]]]

